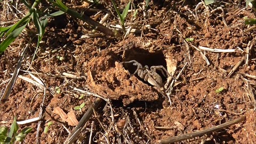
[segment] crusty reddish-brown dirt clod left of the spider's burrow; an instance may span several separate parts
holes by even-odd
[[[87,83],[90,90],[102,97],[122,100],[129,105],[134,100],[154,101],[158,92],[153,87],[141,82],[137,77],[130,76],[112,51],[102,51],[101,55],[88,63]]]

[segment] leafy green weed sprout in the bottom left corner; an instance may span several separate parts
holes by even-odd
[[[17,124],[16,117],[14,117],[11,129],[9,132],[7,127],[1,126],[0,127],[0,143],[14,143],[17,141],[22,142],[27,134],[32,131],[33,128],[25,127],[21,130],[21,132],[18,134],[17,131],[19,129],[19,125]]]

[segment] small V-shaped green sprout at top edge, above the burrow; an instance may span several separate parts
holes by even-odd
[[[116,6],[116,3],[114,2],[114,0],[111,0],[111,2],[114,5],[115,11],[116,11],[116,13],[117,13],[117,15],[119,17],[119,21],[121,23],[122,29],[123,29],[124,32],[126,32],[125,26],[124,26],[124,21],[125,21],[126,15],[128,13],[128,10],[130,9],[131,1],[129,1],[129,3],[127,3],[127,5],[125,6],[124,11],[123,11],[122,14],[117,9],[117,6]]]

